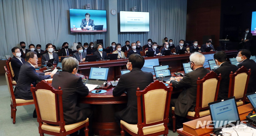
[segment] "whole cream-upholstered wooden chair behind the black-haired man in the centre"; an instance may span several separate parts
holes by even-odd
[[[125,135],[124,130],[132,136],[167,136],[172,87],[155,81],[143,91],[139,90],[140,88],[137,88],[136,91],[137,105],[138,109],[143,110],[143,114],[138,110],[138,124],[128,124],[121,120],[121,136]]]

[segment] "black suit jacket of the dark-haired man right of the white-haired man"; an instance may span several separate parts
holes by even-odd
[[[229,75],[233,71],[235,73],[237,70],[236,65],[232,65],[229,62],[224,62],[214,70],[218,75],[221,73],[220,90],[218,94],[218,100],[228,98],[228,88],[229,88]]]

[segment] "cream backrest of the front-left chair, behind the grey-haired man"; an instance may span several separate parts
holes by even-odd
[[[64,130],[65,122],[63,117],[62,90],[54,89],[49,83],[42,80],[36,87],[31,84],[34,103],[36,106],[37,121],[39,127],[42,123],[61,126]],[[62,128],[63,127],[63,128]]]

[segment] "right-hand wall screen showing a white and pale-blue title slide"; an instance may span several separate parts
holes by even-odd
[[[120,32],[149,32],[149,12],[120,11]]]

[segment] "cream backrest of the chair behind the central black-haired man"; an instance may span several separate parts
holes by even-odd
[[[150,83],[150,85],[148,85],[144,90],[139,90],[140,89],[137,88],[136,91],[137,106],[138,109],[143,110],[143,122],[142,111],[138,110],[138,131],[142,132],[142,128],[144,126],[161,123],[164,123],[167,128],[167,124],[169,122],[168,115],[172,95],[172,86],[166,87],[164,83],[155,81],[154,83]]]

